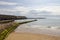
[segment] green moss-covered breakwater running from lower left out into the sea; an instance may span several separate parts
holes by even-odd
[[[19,25],[25,24],[25,23],[29,23],[29,22],[33,22],[33,21],[36,21],[36,20],[26,21],[26,22],[22,22],[22,23],[14,23],[13,25],[11,25],[11,27],[3,30],[3,31],[0,33],[0,40],[4,40],[6,37],[8,37],[8,35],[9,35],[11,32],[13,32]]]

